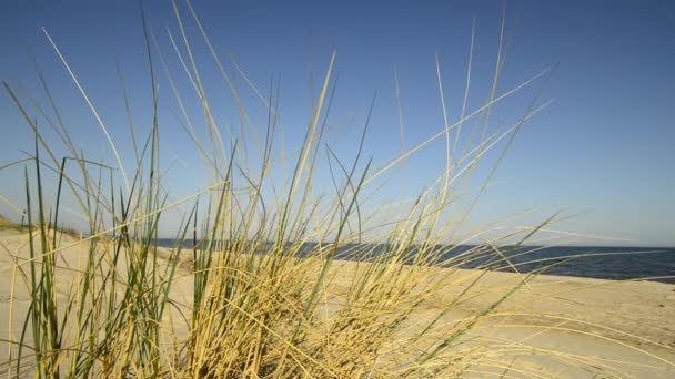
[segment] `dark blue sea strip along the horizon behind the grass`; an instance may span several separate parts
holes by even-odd
[[[159,246],[174,247],[177,240],[160,238]],[[184,244],[192,248],[191,243]],[[316,250],[316,244],[304,244],[300,256]],[[439,259],[434,265],[461,268],[483,268],[500,272],[538,273],[611,280],[649,280],[675,284],[675,248],[672,247],[609,247],[609,246],[502,246],[476,252],[474,245],[435,246]],[[373,260],[391,250],[386,245],[347,244],[336,257],[346,260]],[[416,249],[406,255],[414,262]]]

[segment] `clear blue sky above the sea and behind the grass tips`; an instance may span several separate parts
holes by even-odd
[[[675,246],[675,3],[672,1],[193,1],[226,70],[241,89],[251,117],[266,111],[231,62],[266,96],[280,83],[284,146],[302,139],[331,53],[338,79],[330,139],[345,161],[353,158],[375,96],[365,151],[381,165],[443,130],[436,57],[451,123],[462,114],[466,70],[475,30],[467,110],[490,94],[504,20],[503,65],[496,92],[505,93],[544,70],[535,81],[495,105],[490,131],[511,126],[533,102],[551,103],[520,131],[478,205],[475,224],[527,211],[514,224],[532,225],[561,212],[570,219],[553,228],[561,243],[577,245]],[[238,129],[239,114],[188,9],[179,1],[187,32],[214,114]],[[159,62],[161,51],[181,93],[190,83],[172,49],[180,33],[170,1],[144,1],[161,105],[162,151],[174,164],[167,183],[174,196],[205,185],[199,154],[178,122],[180,107]],[[504,17],[504,18],[503,18]],[[475,22],[475,23],[474,23]],[[475,29],[472,27],[475,25]],[[129,93],[134,123],[151,117],[151,86],[137,1],[2,1],[0,80],[30,105],[49,104],[34,69],[42,71],[75,143],[88,156],[114,165],[109,144],[42,32],[47,30],[109,126],[124,166],[133,165],[118,69]],[[180,44],[180,43],[179,43]],[[403,139],[395,88],[399,78]],[[334,84],[332,84],[334,85]],[[192,91],[193,92],[193,91]],[[200,119],[194,96],[187,112]],[[56,134],[31,116],[58,147]],[[469,113],[469,112],[467,112]],[[165,125],[165,126],[164,126]],[[33,135],[3,91],[0,94],[0,166],[26,157]],[[51,134],[50,134],[51,133]],[[460,144],[467,143],[464,134]],[[202,135],[205,137],[205,134]],[[414,196],[444,168],[444,140],[415,154],[379,198]],[[249,148],[254,150],[253,141]],[[59,150],[61,148],[61,150]],[[462,147],[457,152],[462,151]],[[487,156],[495,160],[498,153]],[[487,166],[490,168],[490,166]],[[0,172],[0,195],[22,206],[22,167]],[[478,171],[485,176],[488,170]],[[319,180],[330,181],[330,176]],[[477,187],[480,188],[480,182]],[[376,206],[379,203],[375,203]],[[11,214],[0,204],[0,213]],[[66,216],[68,217],[68,216]],[[73,216],[74,217],[74,216]],[[74,221],[73,221],[74,222]],[[172,224],[171,224],[172,223]],[[178,222],[170,222],[168,231]],[[170,232],[168,232],[170,233]],[[558,234],[561,235],[561,234]]]

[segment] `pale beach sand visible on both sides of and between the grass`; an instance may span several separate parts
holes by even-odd
[[[68,243],[66,239],[62,245]],[[14,269],[14,262],[28,257],[27,246],[26,233],[0,231],[0,362],[8,357],[4,341],[18,339],[30,305],[20,273]],[[59,300],[67,298],[71,281],[78,275],[77,266],[82,264],[83,252],[83,245],[59,252]],[[362,265],[334,263],[328,286],[329,308],[340,307],[353,273]],[[183,265],[181,270],[172,297],[187,304],[191,293],[189,265]],[[452,280],[444,285],[440,295],[425,301],[411,320],[411,328],[430,317],[434,308],[455,299],[473,278],[483,274],[457,269],[447,276],[443,270],[447,269],[429,268],[429,280],[436,277],[451,277]],[[486,273],[470,296],[465,296],[442,322],[450,325],[484,309],[518,280],[521,277],[516,274]],[[595,373],[578,368],[578,362],[584,362],[605,367],[607,377],[673,378],[675,286],[541,275],[482,319],[467,335],[465,344],[495,347],[495,351],[512,354],[514,366],[505,377],[530,378],[540,371],[541,377],[552,377],[552,373],[562,378],[594,377]],[[520,372],[517,367],[531,372]],[[0,367],[0,372],[4,368]],[[485,367],[471,376],[494,377],[495,372],[503,371]]]

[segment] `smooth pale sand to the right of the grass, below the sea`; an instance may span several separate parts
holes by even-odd
[[[354,265],[345,262],[336,268],[336,299],[346,289]],[[437,270],[430,269],[430,277]],[[433,307],[455,300],[482,274],[456,269],[445,286],[445,296],[427,304]],[[451,325],[484,309],[518,280],[521,277],[512,273],[484,274],[444,322]],[[545,368],[543,377],[552,372],[562,378],[593,377],[574,368],[580,359],[612,367],[609,377],[671,378],[675,375],[674,310],[673,285],[540,275],[502,303],[467,339],[477,337],[470,345],[493,346],[495,350],[508,346],[520,363]],[[424,319],[425,315],[417,317]]]

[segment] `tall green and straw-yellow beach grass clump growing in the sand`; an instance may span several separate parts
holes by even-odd
[[[240,90],[231,84],[189,3],[188,17],[175,4],[174,9],[179,37],[170,37],[194,93],[181,93],[174,85],[180,73],[168,69],[143,19],[152,107],[147,133],[130,125],[134,156],[120,155],[120,143],[113,143],[83,83],[47,31],[46,38],[110,144],[108,161],[115,164],[83,155],[62,121],[66,110],[53,105],[47,82],[50,105],[44,109],[32,103],[29,107],[12,85],[3,83],[36,145],[28,158],[12,165],[26,167],[21,207],[28,234],[13,236],[23,239],[7,254],[13,259],[12,293],[17,298],[26,296],[29,306],[10,307],[10,324],[21,320],[21,327],[3,341],[7,360],[0,363],[0,371],[8,377],[40,378],[351,378],[461,377],[516,370],[513,350],[473,344],[469,337],[483,320],[496,315],[505,299],[527,286],[534,273],[520,275],[517,283],[480,309],[467,311],[459,306],[482,290],[478,284],[484,273],[510,267],[512,252],[554,218],[453,254],[456,246],[449,245],[446,236],[463,218],[457,222],[446,215],[470,187],[472,173],[487,152],[506,151],[521,125],[541,106],[527,110],[512,127],[486,133],[460,156],[453,155],[450,139],[470,120],[481,119],[474,124],[481,129],[496,102],[547,71],[498,94],[496,81],[503,63],[498,62],[484,105],[472,112],[463,110],[454,124],[445,117],[439,134],[375,167],[363,147],[370,116],[354,156],[339,158],[325,144],[334,95],[333,53],[303,141],[281,157],[276,146],[281,139],[279,89],[272,83],[269,94],[262,95],[238,71],[266,110],[266,124],[260,135],[254,127],[223,135],[184,23],[191,21],[200,31],[198,38],[231,85],[238,112],[245,115]],[[179,119],[194,142],[195,154],[211,173],[201,191],[180,199],[171,197],[160,166],[160,72],[180,104]],[[441,85],[440,69],[437,74]],[[183,110],[190,95],[203,113],[206,143],[200,142],[200,123]],[[441,101],[444,106],[442,88]],[[34,112],[47,122],[38,125]],[[48,141],[43,127],[52,127],[60,140]],[[379,208],[364,206],[376,196],[371,190],[377,177],[430,141],[442,139],[446,141],[444,172],[399,206],[400,217],[386,224],[377,217]],[[251,140],[259,142],[259,148],[244,154]],[[57,155],[57,143],[69,155]],[[255,157],[250,156],[253,151]],[[123,162],[131,161],[134,164],[129,170]],[[290,162],[289,173],[281,173],[282,161]],[[498,160],[492,164],[496,167]],[[332,193],[319,196],[315,176],[329,166]],[[81,233],[62,229],[66,194],[85,219]],[[187,211],[172,247],[159,246],[162,217],[179,207]],[[0,223],[0,227],[10,224],[3,218]],[[349,257],[359,259],[343,260]],[[478,259],[484,262],[484,272],[469,279],[457,274],[462,265]],[[464,283],[461,291],[447,291],[460,281]],[[522,349],[517,351],[522,354]],[[570,365],[588,363],[565,359]],[[602,369],[594,366],[594,370]]]

